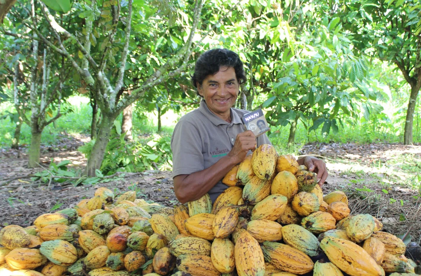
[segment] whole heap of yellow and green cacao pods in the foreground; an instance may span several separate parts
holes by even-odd
[[[416,275],[405,244],[342,191],[262,145],[208,194],[174,208],[99,188],[74,208],[0,230],[4,276]],[[325,254],[325,259],[313,260]]]

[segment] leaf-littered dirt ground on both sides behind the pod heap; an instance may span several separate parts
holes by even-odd
[[[72,161],[69,166],[83,167],[86,159],[76,150],[82,143],[78,139],[69,139],[65,151],[56,151],[60,147],[44,148],[41,165],[48,167],[51,160],[57,163],[67,159]],[[325,194],[333,190],[345,191],[353,213],[370,213],[383,220],[385,229],[395,234],[405,234],[409,229],[413,241],[419,243],[421,226],[417,218],[421,212],[417,211],[421,209],[421,190],[412,189],[408,183],[416,177],[417,167],[421,172],[421,146],[307,144],[301,149],[300,155],[324,158],[329,170],[329,177],[323,186]],[[401,159],[405,156],[411,157],[411,172],[402,167]],[[0,153],[0,183],[11,177],[43,170],[41,167],[29,169],[26,164],[27,156],[22,151],[3,150]],[[145,171],[95,186],[63,187],[52,181],[49,187],[19,187],[4,191],[7,187],[28,183],[28,179],[14,180],[8,186],[0,187],[0,191],[3,190],[0,192],[3,213],[0,227],[9,224],[28,226],[41,214],[71,208],[81,199],[91,197],[98,187],[108,187],[116,193],[135,190],[138,198],[166,206],[178,203],[170,171]]]

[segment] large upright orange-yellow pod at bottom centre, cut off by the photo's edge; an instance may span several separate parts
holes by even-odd
[[[257,240],[248,231],[243,231],[238,237],[234,256],[238,276],[264,275],[265,261],[262,250]]]

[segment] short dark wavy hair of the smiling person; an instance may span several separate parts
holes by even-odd
[[[217,74],[221,66],[234,68],[239,85],[247,80],[242,61],[237,53],[228,49],[212,49],[207,50],[197,59],[191,80],[193,86],[198,88],[197,83],[202,85],[204,79],[209,75]],[[199,95],[199,93],[197,93],[197,95]]]

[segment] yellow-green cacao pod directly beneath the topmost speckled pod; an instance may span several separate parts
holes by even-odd
[[[254,176],[245,184],[242,190],[242,199],[245,203],[256,204],[270,194],[270,186],[270,181]]]

